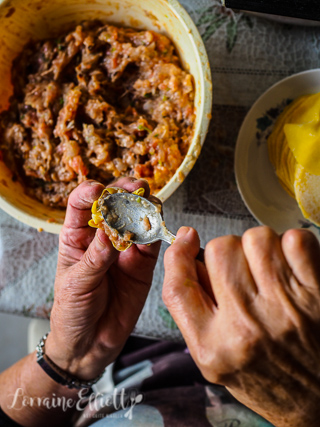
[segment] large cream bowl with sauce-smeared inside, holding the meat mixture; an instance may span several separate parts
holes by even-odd
[[[208,57],[198,30],[177,0],[0,0],[0,111],[12,94],[11,64],[30,39],[56,37],[87,19],[166,34],[182,64],[194,77],[196,123],[186,158],[157,194],[165,201],[194,166],[207,134],[212,107]],[[59,233],[64,211],[48,208],[27,196],[0,161],[0,207],[35,228]]]

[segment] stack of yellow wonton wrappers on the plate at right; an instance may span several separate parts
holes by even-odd
[[[320,94],[302,96],[283,111],[268,149],[283,188],[320,226]]]

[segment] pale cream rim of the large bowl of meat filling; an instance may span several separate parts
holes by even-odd
[[[162,202],[165,202],[178,189],[178,187],[183,183],[185,178],[192,170],[196,160],[200,155],[202,146],[206,139],[212,113],[212,75],[209,58],[204,42],[190,15],[185,10],[185,8],[178,2],[178,0],[163,1],[169,6],[174,15],[179,19],[179,21],[186,30],[186,34],[189,37],[189,41],[194,47],[194,52],[196,54],[197,61],[200,65],[199,79],[201,87],[201,93],[199,94],[201,101],[199,103],[199,108],[197,111],[197,117],[199,117],[199,119],[197,118],[196,128],[193,130],[194,134],[188,153],[183,159],[181,165],[176,170],[175,174],[171,177],[167,184],[156,194],[156,196]],[[5,6],[6,2],[7,0],[0,0],[0,7]],[[192,148],[195,148],[197,146],[199,149],[193,150],[192,152]],[[181,177],[183,177],[183,179],[181,179]],[[0,195],[0,208],[18,221],[21,221],[24,224],[41,231],[59,234],[63,227],[63,224],[57,222],[48,222],[44,219],[37,218],[36,216],[25,212],[23,209],[18,208],[13,203],[6,200],[6,198],[2,195]]]

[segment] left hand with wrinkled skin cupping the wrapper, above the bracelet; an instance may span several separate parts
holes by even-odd
[[[150,193],[143,180],[122,178],[112,185]],[[120,353],[144,306],[160,248],[133,245],[118,252],[103,231],[88,226],[104,188],[86,181],[69,197],[46,343],[46,354],[83,380],[94,379]]]

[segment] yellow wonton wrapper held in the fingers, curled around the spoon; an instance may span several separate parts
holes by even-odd
[[[102,216],[102,213],[100,211],[99,200],[103,199],[104,196],[106,195],[106,193],[109,193],[109,194],[129,193],[129,191],[126,191],[123,188],[119,188],[119,187],[108,187],[108,188],[105,188],[103,190],[99,199],[93,203],[92,208],[91,208],[92,219],[90,219],[88,224],[90,225],[90,227],[100,228],[100,230],[103,230],[103,231],[106,231],[106,227],[108,227],[108,226],[105,223],[103,216]],[[144,193],[145,193],[144,188],[139,188],[138,190],[133,192],[133,194],[136,194],[137,196],[141,196],[141,197],[144,196]],[[111,230],[110,227],[108,227],[108,228]],[[123,251],[126,251],[127,249],[130,248],[130,246],[132,245],[131,242],[127,242],[127,241],[121,239],[121,237],[119,236],[119,234],[117,232],[115,232],[115,230],[113,230],[113,233],[116,233],[117,238],[115,240],[110,238],[110,236],[109,236],[109,238],[110,238],[111,243],[115,249],[117,249],[120,252],[123,252]]]

